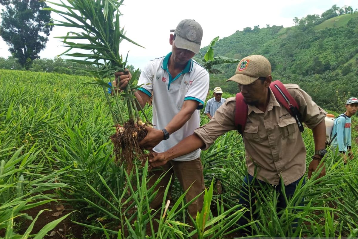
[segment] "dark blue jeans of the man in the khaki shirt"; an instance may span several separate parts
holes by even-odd
[[[304,176],[302,176],[304,177]],[[301,178],[302,178],[301,177]],[[286,197],[287,200],[289,200],[292,195],[294,194],[297,185],[299,184],[301,178],[293,183],[290,183],[289,185],[285,186],[285,193],[286,193]],[[247,207],[248,209],[250,209],[251,207],[251,212],[253,213],[255,211],[255,191],[259,191],[261,190],[261,187],[266,187],[269,186],[269,183],[266,183],[264,181],[258,180],[256,178],[254,178],[251,175],[245,176],[244,178],[244,183],[242,185],[242,192],[240,193],[240,200],[239,200],[239,204],[242,204],[244,207]],[[303,179],[303,183],[302,186],[306,183],[305,178]],[[250,190],[249,190],[250,187]],[[277,194],[279,194],[279,197],[277,199],[277,212],[285,209],[286,208],[286,200],[285,197],[283,195],[283,193],[281,193],[281,181],[279,182],[279,185],[275,186],[275,190],[277,192]],[[251,202],[251,204],[250,204]],[[303,202],[301,202],[300,206],[303,206]],[[250,219],[250,211],[245,212],[244,216],[247,219]],[[256,220],[255,215],[253,215],[253,219]],[[238,221],[238,223],[240,225],[245,225],[248,223],[247,219],[245,219],[244,217],[241,217],[240,220]]]

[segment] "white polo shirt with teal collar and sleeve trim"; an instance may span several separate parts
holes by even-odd
[[[163,129],[179,113],[185,100],[199,102],[197,110],[182,128],[162,140],[153,150],[165,152],[181,140],[194,133],[200,126],[199,110],[204,107],[204,100],[209,90],[209,73],[199,63],[190,59],[187,66],[174,79],[168,71],[171,52],[165,57],[151,60],[141,72],[139,89],[151,96],[153,92],[153,125],[155,129]],[[190,161],[200,157],[200,149],[173,159],[174,161]]]

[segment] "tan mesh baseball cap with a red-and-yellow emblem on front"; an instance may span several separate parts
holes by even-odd
[[[227,81],[235,81],[241,85],[249,85],[258,77],[271,75],[271,64],[266,57],[252,55],[243,58],[237,65],[235,75]]]

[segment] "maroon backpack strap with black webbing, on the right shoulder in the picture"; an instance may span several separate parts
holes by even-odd
[[[276,100],[284,106],[287,111],[295,118],[298,128],[300,132],[304,131],[303,124],[301,123],[301,114],[299,111],[299,105],[296,100],[291,96],[291,94],[287,91],[284,84],[281,81],[273,81],[271,82],[270,89],[272,93],[274,93]]]

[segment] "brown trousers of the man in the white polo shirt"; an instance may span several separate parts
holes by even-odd
[[[148,175],[149,177],[151,177],[148,186],[153,186],[155,181],[158,180],[158,178],[165,172],[167,172],[166,175],[162,178],[160,183],[158,183],[155,188],[155,191],[158,188],[159,191],[150,204],[150,207],[152,209],[158,210],[162,206],[165,188],[168,185],[170,178],[171,182],[173,183],[174,175],[178,178],[184,192],[190,187],[190,185],[193,184],[185,195],[185,199],[187,200],[187,202],[189,202],[205,190],[203,165],[201,163],[200,158],[185,162],[171,160],[164,164],[162,167],[158,169],[153,169]],[[170,192],[171,186],[169,188],[168,195],[170,194]],[[202,194],[195,201],[193,201],[192,204],[188,206],[188,212],[193,219],[197,217],[197,212],[200,212],[202,210],[203,202],[204,196]],[[159,215],[159,213],[156,214],[155,218],[159,219],[160,216],[162,216]],[[157,228],[158,225],[155,225],[155,227]]]

